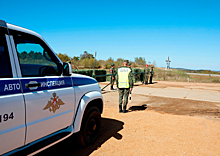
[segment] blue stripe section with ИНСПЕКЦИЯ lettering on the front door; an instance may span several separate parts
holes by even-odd
[[[33,90],[31,90],[30,88],[25,88],[25,84],[30,83],[30,81],[36,81],[37,83],[41,83],[41,86]],[[70,77],[21,79],[21,84],[22,84],[23,93],[72,87],[72,81]]]

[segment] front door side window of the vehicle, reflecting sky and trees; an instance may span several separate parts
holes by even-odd
[[[23,77],[56,76],[57,58],[38,37],[10,31],[13,35]]]

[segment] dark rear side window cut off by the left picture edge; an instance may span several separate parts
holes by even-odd
[[[0,27],[0,78],[11,78],[11,63],[8,54],[8,47],[6,43],[7,30]]]

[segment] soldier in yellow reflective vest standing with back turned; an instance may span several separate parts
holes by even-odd
[[[128,66],[128,60],[124,60],[123,66],[117,69],[116,84],[119,92],[119,113],[122,112],[122,101],[123,113],[126,113],[126,107],[128,104],[129,92],[133,89],[132,72]]]

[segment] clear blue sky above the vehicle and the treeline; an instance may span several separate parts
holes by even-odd
[[[220,70],[219,0],[3,1],[0,19],[42,35],[56,53],[144,57],[165,67]]]

